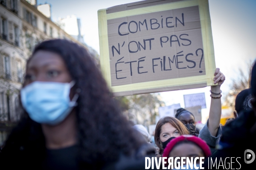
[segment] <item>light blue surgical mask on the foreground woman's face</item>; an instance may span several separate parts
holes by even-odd
[[[77,105],[78,94],[70,101],[70,88],[75,83],[32,82],[20,90],[23,108],[38,123],[57,125]]]

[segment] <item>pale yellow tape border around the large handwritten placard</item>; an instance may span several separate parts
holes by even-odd
[[[107,20],[139,14],[148,14],[158,11],[166,11],[177,8],[185,8],[190,6],[199,6],[206,75],[111,86]],[[177,85],[192,85],[205,82],[207,83],[207,86],[214,85],[212,79],[215,72],[215,59],[208,0],[184,0],[174,3],[165,3],[156,6],[148,6],[126,11],[119,11],[110,14],[107,14],[106,10],[107,9],[101,9],[98,11],[100,65],[102,69],[102,74],[105,77],[108,86],[112,89],[113,92],[136,91],[151,88],[165,88]]]

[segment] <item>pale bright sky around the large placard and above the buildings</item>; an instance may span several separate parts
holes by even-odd
[[[99,52],[97,11],[111,6],[136,2],[138,0],[38,0],[38,4],[50,3],[52,20],[75,14],[81,19],[82,33],[87,45]],[[238,68],[246,69],[246,63],[256,57],[256,0],[209,0],[212,22],[212,35],[216,67],[226,76],[221,87],[227,94],[231,79],[238,77]],[[163,92],[161,96],[166,105],[180,103],[184,107],[183,94],[205,93],[209,113],[209,87]],[[222,98],[224,99],[224,98]]]

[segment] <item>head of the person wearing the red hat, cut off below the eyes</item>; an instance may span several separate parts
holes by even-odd
[[[211,156],[209,146],[204,140],[193,136],[183,135],[173,139],[163,151],[163,157],[186,157],[193,160],[195,157],[207,158]],[[199,160],[197,162],[199,164]]]

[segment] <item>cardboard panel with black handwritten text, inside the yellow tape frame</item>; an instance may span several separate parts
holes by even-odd
[[[198,6],[108,20],[111,84],[205,75]]]

